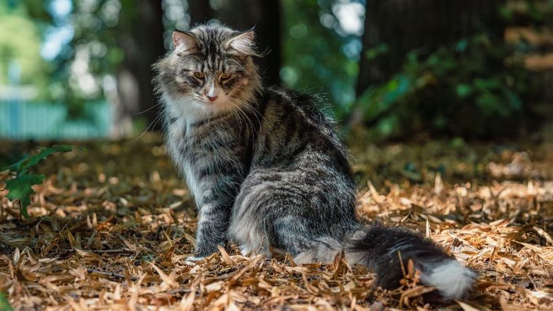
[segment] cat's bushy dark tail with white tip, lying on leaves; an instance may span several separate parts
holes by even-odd
[[[346,259],[366,265],[377,274],[377,284],[397,288],[411,259],[420,271],[420,281],[435,287],[445,299],[465,295],[476,279],[476,272],[462,266],[432,241],[409,229],[373,224],[357,230],[344,241]]]

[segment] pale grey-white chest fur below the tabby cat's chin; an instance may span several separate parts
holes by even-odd
[[[198,207],[212,196],[216,186],[236,182],[225,179],[229,171],[243,170],[240,133],[228,124],[229,120],[205,124],[174,120],[167,126],[167,149],[180,173],[185,175]]]

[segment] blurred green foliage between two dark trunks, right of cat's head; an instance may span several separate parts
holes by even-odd
[[[285,86],[325,97],[334,115],[343,120],[355,100],[359,70],[357,59],[347,57],[343,49],[359,39],[337,34],[334,2],[282,0],[281,79]],[[330,19],[326,26],[321,25],[324,18]]]

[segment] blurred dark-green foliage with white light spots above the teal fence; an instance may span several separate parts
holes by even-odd
[[[55,28],[71,25],[70,41],[51,60],[55,70],[49,81],[48,99],[67,104],[68,117],[88,117],[84,109],[86,102],[104,98],[106,82],[114,85],[112,75],[123,58],[115,26],[118,26],[122,6],[126,9],[124,16],[133,14],[133,1],[71,0],[67,16],[54,12],[53,1],[21,2],[26,8],[32,8],[31,17],[42,25],[44,36]]]

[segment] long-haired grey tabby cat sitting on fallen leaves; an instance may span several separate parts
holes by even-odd
[[[203,25],[174,32],[175,49],[153,68],[167,149],[198,207],[196,256],[234,242],[243,254],[270,247],[297,263],[350,263],[394,288],[400,260],[421,281],[458,298],[476,273],[407,229],[355,217],[348,151],[312,97],[261,84],[254,32]]]

